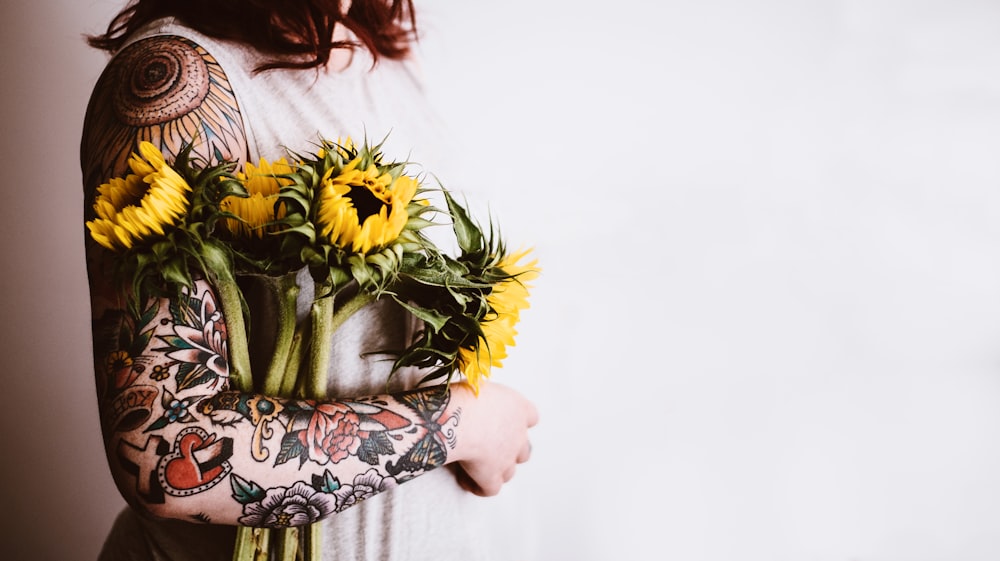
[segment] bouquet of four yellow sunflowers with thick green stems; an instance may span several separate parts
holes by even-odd
[[[418,367],[423,382],[460,372],[478,388],[514,344],[537,274],[534,262],[522,263],[528,252],[508,252],[492,226],[484,231],[443,188],[436,190],[445,208],[430,204],[431,190],[407,173],[409,162],[384,161],[381,144],[320,139],[315,153],[290,158],[208,166],[188,146],[168,163],[142,143],[131,173],[100,186],[87,222],[129,283],[130,305],[180,295],[205,275],[226,314],[231,387],[315,399],[326,397],[333,333],[354,312],[391,298],[422,325],[392,372]],[[439,216],[451,223],[456,255],[423,232]],[[315,284],[305,332],[296,322],[303,269]],[[278,302],[274,352],[256,384],[241,275],[263,279]],[[235,558],[266,559],[274,547],[318,558],[315,528],[314,539],[289,528],[275,540],[270,530],[241,528]]]

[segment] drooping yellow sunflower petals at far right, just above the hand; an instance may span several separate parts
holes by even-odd
[[[461,347],[458,350],[458,369],[465,374],[472,388],[479,390],[483,378],[488,378],[492,367],[500,368],[507,358],[507,347],[514,346],[514,328],[521,318],[521,310],[528,307],[529,281],[538,277],[537,261],[520,264],[519,261],[530,252],[521,250],[507,255],[499,267],[510,275],[500,282],[486,297],[490,313],[480,322],[483,336],[475,347]]]

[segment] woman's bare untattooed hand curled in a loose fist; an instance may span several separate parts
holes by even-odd
[[[452,385],[450,413],[459,408],[452,456],[458,482],[481,497],[496,495],[514,477],[517,464],[531,456],[528,429],[538,423],[538,411],[520,393],[485,381],[478,396],[465,384]]]

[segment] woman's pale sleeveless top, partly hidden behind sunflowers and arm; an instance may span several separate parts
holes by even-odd
[[[355,50],[342,71],[277,69],[254,74],[263,58],[243,46],[205,37],[173,20],[156,22],[130,41],[157,35],[190,39],[215,57],[235,91],[254,162],[273,161],[286,150],[311,152],[322,135],[336,140],[387,134],[389,160],[430,164],[440,127],[428,109],[417,73],[408,62],[380,60]],[[432,165],[427,165],[433,171]],[[300,276],[305,281],[306,275]],[[300,315],[311,295],[302,282]],[[253,304],[251,304],[253,306]],[[266,323],[268,306],[251,307],[254,324]],[[389,362],[367,353],[402,348],[412,322],[389,305],[353,316],[338,331],[331,360],[332,396],[383,393]],[[397,343],[393,346],[391,343]],[[393,390],[412,384],[400,377]],[[482,499],[463,491],[448,468],[440,468],[333,515],[324,526],[324,561],[475,561],[490,558]],[[153,521],[131,509],[121,513],[108,536],[101,561],[229,561],[235,531],[227,526]]]

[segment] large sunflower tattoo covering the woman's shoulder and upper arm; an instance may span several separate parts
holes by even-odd
[[[194,141],[193,155],[207,163],[247,159],[233,88],[215,58],[188,39],[139,40],[101,75],[80,147],[88,192],[124,176],[129,155],[143,140],[168,157]]]

